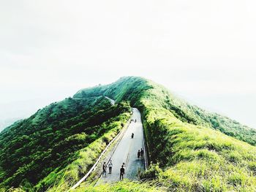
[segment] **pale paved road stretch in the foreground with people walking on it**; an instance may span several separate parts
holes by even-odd
[[[143,124],[139,110],[136,108],[132,110],[132,119],[137,120],[137,122],[132,121],[129,124],[124,137],[121,138],[111,157],[113,163],[112,174],[107,172],[107,176],[102,176],[97,184],[118,181],[120,168],[123,163],[125,163],[124,178],[129,178],[130,180],[138,178],[139,169],[145,170],[145,159],[137,157],[138,150],[143,148]],[[135,135],[133,139],[131,138],[132,133]],[[145,151],[145,149],[143,150]]]

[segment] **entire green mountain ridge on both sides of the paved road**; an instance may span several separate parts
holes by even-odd
[[[4,129],[0,189],[68,190],[124,126],[129,106],[143,115],[151,168],[140,178],[147,182],[81,185],[76,191],[256,191],[255,129],[190,105],[142,77],[82,89]]]

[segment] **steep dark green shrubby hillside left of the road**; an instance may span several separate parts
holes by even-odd
[[[6,128],[0,134],[1,191],[19,185],[33,191],[34,185],[50,172],[59,174],[80,158],[82,152],[78,150],[86,150],[86,147],[89,150],[98,142],[104,147],[127,121],[129,115],[125,114],[129,114],[129,110],[125,103],[111,106],[103,96],[69,98],[50,104],[30,118]],[[97,151],[101,149],[95,150],[94,158]],[[48,177],[37,185],[37,189],[45,191],[55,182],[52,179]]]

